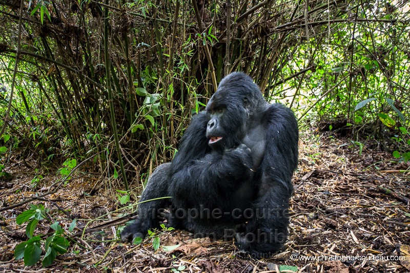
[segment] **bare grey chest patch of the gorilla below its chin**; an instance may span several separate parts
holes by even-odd
[[[265,153],[266,133],[262,124],[248,129],[247,134],[243,137],[242,143],[247,145],[252,152],[253,169],[257,171],[260,162]]]

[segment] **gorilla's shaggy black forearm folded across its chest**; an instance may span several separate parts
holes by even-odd
[[[179,162],[175,156],[170,193],[173,203],[182,208],[221,207],[253,175],[251,151],[244,144],[223,153],[208,153],[183,165]]]

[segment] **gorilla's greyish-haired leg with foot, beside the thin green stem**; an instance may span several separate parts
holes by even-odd
[[[156,167],[148,180],[147,187],[141,195],[140,202],[169,196],[168,173],[171,163],[165,163]],[[159,199],[140,203],[138,205],[138,218],[134,223],[126,226],[121,232],[122,241],[131,241],[136,237],[144,238],[150,228],[159,228],[161,210],[168,207],[169,199]]]

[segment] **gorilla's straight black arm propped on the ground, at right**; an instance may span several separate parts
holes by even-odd
[[[273,253],[279,250],[288,235],[288,208],[292,195],[292,175],[298,162],[298,125],[293,112],[281,104],[273,104],[263,117],[266,128],[265,154],[260,165],[261,181],[253,207],[262,212],[237,234],[240,249],[252,253]],[[250,240],[247,234],[256,235]]]

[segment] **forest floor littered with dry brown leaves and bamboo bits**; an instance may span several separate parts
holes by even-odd
[[[364,145],[359,155],[348,139],[304,133],[289,241],[273,258],[254,259],[238,253],[233,241],[193,239],[181,230],[159,233],[159,247],[155,238],[138,245],[113,240],[117,225],[89,232],[125,212],[116,211],[124,205],[109,183],[76,172],[56,193],[38,198],[61,176],[54,172],[33,187],[34,171],[11,159],[4,170],[11,179],[0,180],[0,272],[408,272],[410,177],[399,172],[408,167],[371,146]],[[15,218],[29,207],[12,205],[25,200],[44,204],[66,232],[72,220],[60,209],[78,219],[68,232],[68,252],[48,268],[14,260],[15,246],[27,240],[27,224],[19,226]],[[34,234],[51,234],[50,224],[40,221]]]

